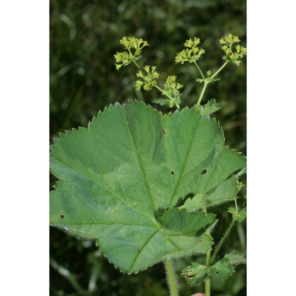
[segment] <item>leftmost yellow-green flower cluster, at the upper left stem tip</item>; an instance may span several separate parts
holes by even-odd
[[[139,58],[141,58],[141,55],[140,55],[141,49],[144,46],[149,45],[147,43],[147,41],[143,41],[142,38],[138,39],[135,37],[128,37],[128,38],[123,37],[120,40],[120,44],[125,46],[125,48],[128,50],[128,52],[117,52],[116,54],[114,54],[115,61],[117,63],[121,63],[121,64],[115,63],[116,70],[118,70],[118,71],[121,66],[127,66],[131,62],[136,61]],[[134,52],[131,52],[131,49],[133,49]]]

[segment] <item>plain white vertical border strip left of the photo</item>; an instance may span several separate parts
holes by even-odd
[[[49,4],[1,4],[1,295],[49,291]]]

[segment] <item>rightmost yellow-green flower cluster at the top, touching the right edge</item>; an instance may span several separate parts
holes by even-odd
[[[238,43],[240,41],[238,36],[232,36],[231,34],[228,34],[225,36],[225,38],[222,37],[222,39],[220,39],[219,41],[220,44],[225,44],[221,46],[221,49],[223,50],[223,52],[225,52],[225,56],[223,57],[223,59],[225,59],[227,62],[232,62],[234,65],[239,66],[241,61],[238,61],[237,59],[242,59],[244,55],[247,55],[247,49],[240,45],[237,45],[235,47],[236,52],[232,52],[232,44]]]

